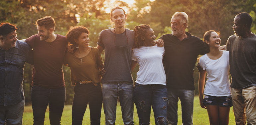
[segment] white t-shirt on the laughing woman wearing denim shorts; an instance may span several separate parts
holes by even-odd
[[[203,70],[206,69],[206,77],[208,78],[203,94],[210,96],[231,95],[228,51],[223,51],[222,56],[217,60],[212,60],[205,54],[200,58],[199,63]]]

